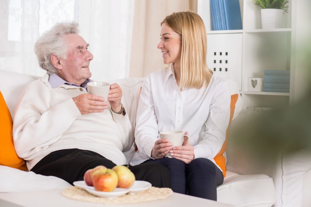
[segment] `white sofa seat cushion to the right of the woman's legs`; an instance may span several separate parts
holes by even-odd
[[[217,201],[236,206],[272,206],[275,190],[267,175],[238,175],[227,171],[224,183],[217,187]]]

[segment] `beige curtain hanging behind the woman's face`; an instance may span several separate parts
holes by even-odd
[[[129,77],[145,77],[166,67],[160,42],[160,22],[179,11],[197,12],[197,0],[136,0]]]

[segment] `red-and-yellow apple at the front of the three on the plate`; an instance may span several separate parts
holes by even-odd
[[[118,175],[112,169],[100,169],[93,174],[93,185],[96,191],[111,192],[118,185]]]

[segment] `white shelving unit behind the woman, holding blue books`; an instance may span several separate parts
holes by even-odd
[[[283,16],[282,28],[261,29],[260,7],[253,0],[239,0],[243,29],[238,30],[213,30],[209,2],[197,1],[197,13],[207,28],[208,67],[216,74],[226,73],[236,79],[243,108],[277,108],[292,104],[295,89],[295,56],[292,54],[296,39],[296,1],[290,0],[289,13]],[[225,52],[228,56],[220,55]],[[226,60],[228,64],[224,64]],[[263,78],[264,70],[290,70],[290,92],[248,91],[248,78]]]

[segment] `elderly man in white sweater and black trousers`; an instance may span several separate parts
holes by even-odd
[[[97,165],[126,164],[122,151],[134,139],[117,83],[108,100],[87,93],[93,55],[77,33],[77,23],[59,23],[37,40],[35,53],[47,74],[22,92],[13,126],[16,153],[28,169],[69,183],[83,180],[86,170]],[[160,164],[130,169],[136,180],[170,186],[170,174]]]

